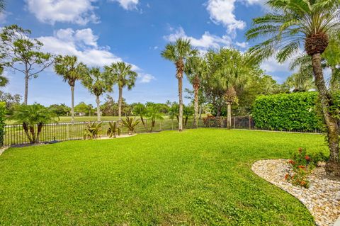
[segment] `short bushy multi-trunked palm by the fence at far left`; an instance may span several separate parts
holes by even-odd
[[[50,123],[55,120],[57,115],[48,108],[35,103],[33,105],[19,105],[16,107],[10,120],[15,120],[16,123],[23,124],[23,130],[31,144],[38,143],[42,127],[45,123]],[[35,131],[35,125],[37,130]]]

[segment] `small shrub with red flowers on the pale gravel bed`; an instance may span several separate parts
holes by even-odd
[[[327,161],[327,157],[322,152],[307,154],[306,149],[299,148],[288,161],[292,169],[285,174],[285,180],[290,181],[295,186],[309,188],[310,181],[307,179],[308,175],[317,166],[318,162],[323,161]]]

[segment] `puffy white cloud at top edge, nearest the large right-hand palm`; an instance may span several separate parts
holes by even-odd
[[[244,29],[246,23],[237,20],[234,15],[236,0],[208,0],[207,10],[210,19],[214,23],[222,23],[227,28],[228,33],[234,33],[236,29]]]

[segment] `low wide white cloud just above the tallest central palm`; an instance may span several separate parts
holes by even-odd
[[[223,35],[220,37],[217,35],[211,35],[208,31],[205,31],[201,38],[193,38],[186,35],[186,32],[182,27],[179,27],[178,29],[170,28],[170,30],[174,31],[174,33],[164,36],[164,39],[169,42],[174,42],[178,38],[186,38],[191,40],[191,45],[194,47],[200,47],[203,49],[219,48],[232,43],[232,40],[229,36]]]

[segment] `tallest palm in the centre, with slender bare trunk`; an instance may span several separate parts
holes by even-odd
[[[190,40],[179,38],[175,43],[166,45],[161,55],[166,60],[174,62],[176,66],[176,78],[179,80],[179,131],[181,132],[183,130],[183,72],[186,60],[197,55],[197,50],[193,49]]]

